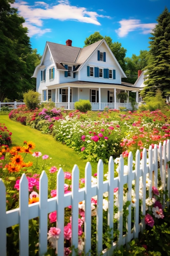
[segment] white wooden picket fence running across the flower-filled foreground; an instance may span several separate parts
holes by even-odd
[[[132,181],[135,180],[136,207],[134,213],[134,227],[131,229],[131,205],[127,217],[127,234],[123,235],[123,216],[119,219],[119,239],[118,243],[103,251],[103,255],[113,255],[114,248],[118,245],[127,244],[132,238],[137,238],[140,231],[145,229],[144,220],[139,223],[139,179],[143,180],[143,199],[141,203],[142,214],[146,213],[146,174],[152,181],[149,188],[149,196],[152,194],[152,185],[157,187],[158,183],[158,163],[161,173],[162,188],[168,190],[170,198],[170,141],[164,141],[154,149],[150,146],[148,150],[144,148],[142,153],[142,164],[140,163],[140,152],[137,150],[135,156],[135,170],[132,170],[132,153],[128,156],[128,175],[124,175],[124,159],[121,155],[119,162],[119,176],[114,177],[114,161],[110,157],[108,163],[108,180],[104,181],[103,162],[99,160],[97,165],[97,184],[91,186],[91,164],[88,162],[85,168],[85,187],[79,189],[79,169],[77,165],[72,171],[72,192],[64,194],[64,172],[62,168],[57,173],[57,197],[48,199],[48,179],[43,171],[40,176],[40,202],[28,204],[29,192],[26,175],[23,174],[20,180],[19,208],[6,212],[6,189],[0,180],[0,255],[6,256],[6,231],[7,227],[19,224],[20,256],[29,256],[29,220],[39,217],[39,255],[42,256],[47,251],[48,213],[57,211],[57,227],[61,229],[60,238],[57,241],[58,256],[64,256],[64,208],[72,206],[72,238],[71,242],[75,248],[78,247],[78,203],[85,200],[85,222],[84,222],[84,252],[91,255],[91,198],[97,195],[97,254],[102,252],[103,234],[103,193],[108,191],[108,226],[113,230],[114,216],[114,188],[118,187],[118,210],[123,209],[124,184],[128,184],[128,200],[131,201]],[[159,161],[158,161],[159,159]],[[169,207],[169,202],[164,202]],[[113,231],[112,231],[113,232]],[[74,252],[73,252],[73,255]]]

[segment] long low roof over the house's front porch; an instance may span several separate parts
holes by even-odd
[[[120,89],[127,91],[139,91],[140,87],[134,87],[132,83],[123,82],[119,83],[97,83],[97,82],[86,82],[86,81],[73,81],[69,83],[60,83],[56,85],[47,85],[49,89],[55,88],[65,88],[65,87],[74,87],[74,88],[105,88],[105,89]]]

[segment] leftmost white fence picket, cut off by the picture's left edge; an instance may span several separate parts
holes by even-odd
[[[6,188],[0,179],[0,254],[6,256],[7,246]]]

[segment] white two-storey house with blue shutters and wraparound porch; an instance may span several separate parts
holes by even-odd
[[[126,74],[110,50],[105,39],[84,48],[46,42],[40,65],[35,68],[36,90],[43,101],[51,99],[57,108],[74,109],[75,101],[88,99],[92,110],[106,106],[132,109],[131,104],[118,99],[120,92],[134,92],[130,83],[122,83]],[[136,101],[138,91],[135,87]]]

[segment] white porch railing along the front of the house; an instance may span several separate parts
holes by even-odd
[[[56,108],[64,108],[66,110],[75,110],[74,102],[55,102]],[[107,103],[107,102],[91,102],[91,110],[104,110],[108,107],[109,109],[119,109],[119,107],[124,107],[127,110],[132,110],[131,103]],[[138,103],[136,103],[136,108],[138,108]]]

